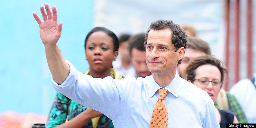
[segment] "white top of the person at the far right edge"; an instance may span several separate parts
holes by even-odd
[[[256,78],[256,73],[254,73]],[[256,85],[256,80],[254,81]],[[230,93],[235,95],[245,115],[248,123],[256,123],[256,87],[248,78],[241,79],[230,89]]]

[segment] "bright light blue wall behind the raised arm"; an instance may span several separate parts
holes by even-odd
[[[1,0],[0,1],[0,112],[47,115],[55,95],[39,26],[40,5],[57,7],[63,22],[58,45],[65,59],[86,71],[84,39],[93,27],[93,0]]]

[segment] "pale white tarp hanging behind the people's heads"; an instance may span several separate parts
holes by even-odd
[[[156,20],[188,23],[222,60],[223,5],[223,0],[95,0],[94,26],[105,26],[120,35],[146,32]]]

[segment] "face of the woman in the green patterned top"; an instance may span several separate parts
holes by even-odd
[[[111,68],[113,60],[117,58],[118,51],[114,51],[112,38],[102,31],[94,32],[86,42],[86,59],[90,70],[102,72]]]

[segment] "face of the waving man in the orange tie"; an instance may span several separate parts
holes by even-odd
[[[152,74],[170,75],[176,72],[184,47],[176,50],[171,41],[171,29],[150,30],[146,44],[147,65]]]

